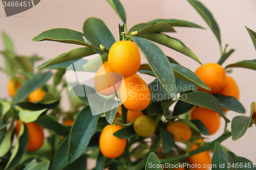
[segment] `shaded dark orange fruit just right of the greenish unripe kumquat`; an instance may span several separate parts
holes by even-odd
[[[185,141],[188,141],[192,135],[192,132],[190,128],[181,123],[173,123],[166,127],[166,129],[174,135],[175,140],[183,141],[180,139],[184,139]]]

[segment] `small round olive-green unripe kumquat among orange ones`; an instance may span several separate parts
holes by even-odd
[[[156,130],[156,123],[150,116],[140,116],[134,122],[134,131],[141,137],[150,137]]]

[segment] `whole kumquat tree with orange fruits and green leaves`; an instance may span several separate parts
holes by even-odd
[[[216,20],[197,0],[188,3],[218,39],[218,63],[202,63],[181,40],[165,34],[176,32],[176,27],[204,29],[196,23],[155,19],[128,30],[119,0],[108,2],[123,22],[116,24],[119,32],[111,33],[95,17],[84,21],[83,33],[66,28],[42,32],[32,41],[78,48],[37,69],[34,65],[41,58],[16,54],[11,38],[2,32],[1,71],[9,77],[12,100],[0,99],[0,169],[84,170],[92,159],[95,170],[256,169],[253,162],[221,145],[229,137],[240,139],[256,122],[255,102],[246,108],[250,116],[244,116],[239,87],[226,74],[236,67],[256,70],[256,59],[223,66],[234,50],[223,47]],[[246,30],[256,48],[256,33]],[[118,41],[113,34],[119,34]],[[156,43],[201,66],[191,71]],[[147,63],[141,63],[141,54]],[[144,74],[155,80],[146,84]],[[69,92],[67,112],[60,107],[63,90]],[[230,110],[241,115],[228,119]],[[205,141],[219,130],[221,119],[223,133]]]

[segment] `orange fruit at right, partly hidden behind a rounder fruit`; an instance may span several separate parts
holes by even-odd
[[[233,96],[234,98],[239,100],[238,85],[237,85],[236,81],[234,81],[234,79],[231,78],[230,76],[227,76],[227,80],[226,80],[224,87],[217,93],[223,94],[223,95],[228,95],[228,96]],[[227,109],[223,109],[223,111],[227,111]]]

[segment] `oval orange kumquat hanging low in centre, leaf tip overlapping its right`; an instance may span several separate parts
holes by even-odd
[[[99,149],[107,158],[117,158],[125,149],[127,140],[119,139],[113,135],[113,133],[120,129],[122,129],[120,126],[107,125],[100,134]]]

